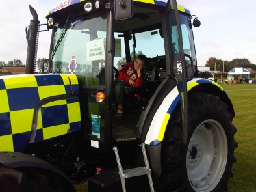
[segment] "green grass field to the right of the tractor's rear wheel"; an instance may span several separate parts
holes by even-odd
[[[217,82],[219,83],[219,82]],[[229,95],[235,109],[233,125],[238,129],[235,140],[237,163],[233,164],[233,178],[229,192],[256,192],[256,84],[220,84]],[[86,184],[76,186],[87,191]]]

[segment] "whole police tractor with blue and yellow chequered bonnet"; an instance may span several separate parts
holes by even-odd
[[[63,1],[36,74],[30,11],[26,74],[0,77],[0,191],[227,191],[235,112],[197,69],[197,16],[170,0]],[[139,53],[144,84],[116,118],[121,61]]]

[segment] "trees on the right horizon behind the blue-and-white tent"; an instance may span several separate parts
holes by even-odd
[[[205,67],[210,67],[211,71],[214,71],[214,66],[216,63],[216,71],[223,71],[223,64],[224,64],[224,71],[229,72],[233,68],[243,67],[243,68],[252,68],[256,70],[256,65],[252,64],[249,59],[246,58],[237,58],[233,59],[232,61],[216,59],[215,57],[210,57],[205,64]]]

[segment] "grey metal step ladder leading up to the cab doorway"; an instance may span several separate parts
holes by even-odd
[[[146,167],[137,167],[137,168],[126,169],[126,170],[123,170],[123,168],[122,168],[121,161],[120,161],[119,154],[118,154],[118,149],[116,147],[113,147],[113,150],[116,155],[116,161],[118,164],[119,175],[121,178],[123,192],[126,192],[125,178],[131,178],[131,177],[142,176],[142,175],[148,175],[150,190],[151,190],[151,192],[154,192],[153,182],[152,182],[152,178],[151,178],[151,169],[149,168],[149,161],[146,156],[145,144],[140,143],[140,147],[142,148]]]

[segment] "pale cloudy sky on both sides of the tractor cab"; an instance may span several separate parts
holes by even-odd
[[[0,0],[0,61],[20,59],[26,63],[25,28],[32,19],[31,5],[40,23],[62,0]],[[209,57],[224,61],[246,58],[256,64],[256,1],[255,0],[177,0],[201,21],[194,30],[198,66],[205,66]],[[40,27],[46,29],[46,27]],[[38,57],[49,57],[51,31],[39,34]]]

